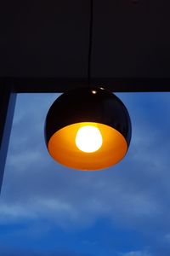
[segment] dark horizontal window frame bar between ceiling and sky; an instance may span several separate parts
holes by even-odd
[[[88,86],[85,78],[0,78],[0,88],[17,93],[65,92]],[[170,91],[170,78],[92,78],[91,84],[103,86],[113,92],[161,92]]]

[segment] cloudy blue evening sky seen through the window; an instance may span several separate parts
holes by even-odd
[[[19,94],[0,196],[2,256],[169,256],[170,93],[122,93],[126,157],[99,172],[60,166],[43,129],[59,94]]]

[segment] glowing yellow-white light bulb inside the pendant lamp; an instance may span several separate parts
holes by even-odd
[[[76,145],[83,152],[93,153],[99,150],[102,143],[101,133],[95,126],[85,125],[77,131]]]

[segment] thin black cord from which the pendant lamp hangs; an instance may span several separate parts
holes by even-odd
[[[88,86],[90,86],[91,84],[93,25],[94,25],[94,0],[90,0],[89,44],[88,44]]]

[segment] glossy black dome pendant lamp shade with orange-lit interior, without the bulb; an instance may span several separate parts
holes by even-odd
[[[77,132],[96,127],[101,147],[90,153],[77,148]],[[122,101],[108,90],[82,88],[59,96],[48,111],[45,139],[49,154],[64,166],[95,171],[115,165],[127,153],[131,121]]]

